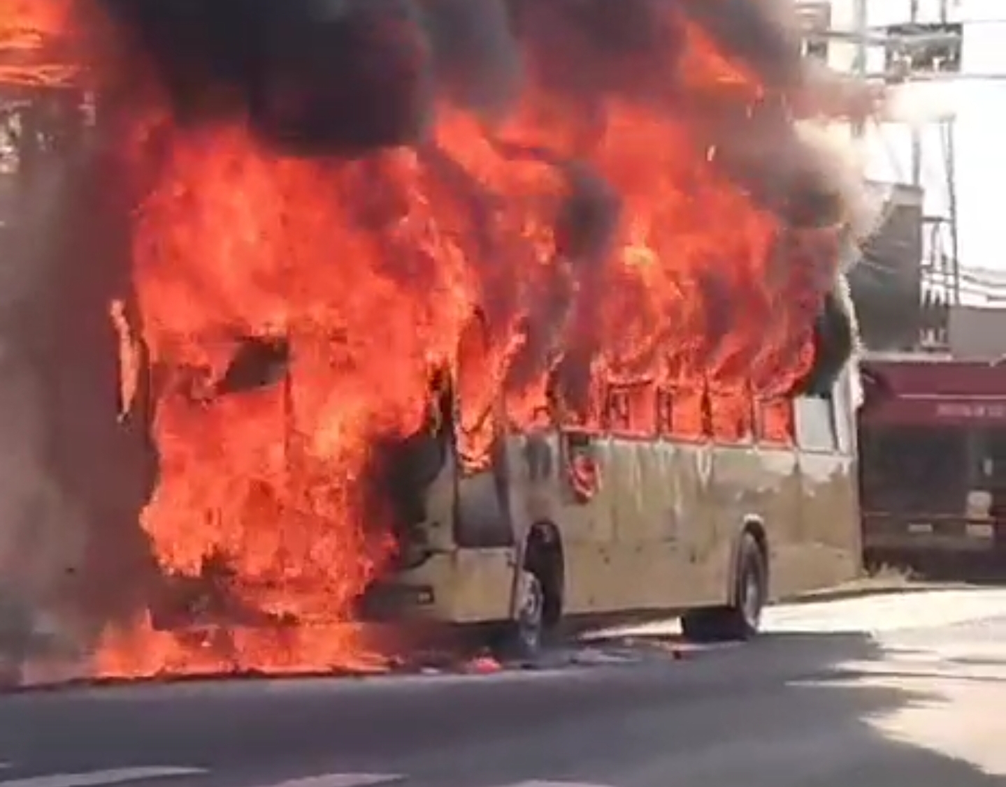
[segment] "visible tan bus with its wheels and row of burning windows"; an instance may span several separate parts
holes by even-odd
[[[738,410],[735,395],[603,383],[595,429],[517,429],[501,403],[475,466],[451,395],[400,462],[412,480],[427,468],[425,493],[398,501],[401,564],[365,614],[490,624],[525,651],[560,621],[651,613],[683,612],[693,639],[746,638],[770,600],[859,570],[857,386],[846,363],[819,395]],[[700,430],[682,436],[685,417]],[[730,439],[710,436],[717,419]]]

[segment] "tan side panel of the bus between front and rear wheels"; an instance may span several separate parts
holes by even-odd
[[[702,563],[714,560],[715,544],[705,505],[707,448],[591,438],[598,484],[584,497],[569,483],[575,447],[567,444],[582,446],[584,438],[560,433],[546,439],[557,458],[555,472],[515,472],[520,482],[511,502],[520,530],[533,522],[559,528],[566,613],[677,608],[709,598],[721,570]]]

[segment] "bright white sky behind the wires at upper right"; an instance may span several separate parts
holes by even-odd
[[[854,0],[832,0],[833,27],[852,26]],[[917,85],[909,104],[956,118],[955,157],[958,229],[962,268],[981,268],[1003,276],[1006,286],[1006,211],[999,205],[1006,191],[1006,0],[949,0],[951,20],[965,24],[962,71],[965,78]],[[919,21],[937,21],[940,0],[919,0]],[[868,0],[870,26],[906,22],[909,0]],[[833,57],[851,56],[837,47]],[[870,71],[882,67],[882,50],[870,52]],[[834,60],[833,60],[834,62]],[[999,74],[1000,79],[976,75]],[[921,126],[923,186],[927,210],[947,214],[947,167],[941,134]],[[867,174],[883,181],[911,178],[910,133],[905,126],[886,125],[871,135]]]

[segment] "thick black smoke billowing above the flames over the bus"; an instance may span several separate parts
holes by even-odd
[[[581,137],[575,150],[522,150],[495,141],[504,157],[551,164],[568,186],[556,219],[560,272],[520,305],[527,341],[511,370],[514,380],[533,376],[529,365],[547,363],[569,339],[570,325],[580,329],[572,333],[583,346],[567,354],[589,359],[596,350],[599,260],[620,205],[586,160],[613,96],[668,117],[686,114],[714,151],[714,165],[789,228],[854,225],[862,213],[856,179],[832,148],[795,121],[861,119],[878,96],[801,56],[789,0],[101,2],[167,89],[176,120],[247,118],[279,153],[360,157],[407,146],[446,171],[450,164],[431,134],[445,104],[470,113],[491,138],[531,87],[575,118]],[[759,101],[688,90],[682,56],[689,26],[753,74],[764,86]],[[471,205],[487,203],[478,184],[466,189]],[[476,256],[489,264],[491,254]],[[841,337],[834,353],[819,348],[833,369],[836,353],[846,357],[852,346],[852,322],[828,296],[837,260],[804,256],[800,264],[820,268],[809,279],[819,282],[819,343],[831,347],[827,337]],[[486,307],[491,314],[493,305]]]

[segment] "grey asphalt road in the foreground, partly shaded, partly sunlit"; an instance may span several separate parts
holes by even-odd
[[[1006,784],[1006,591],[778,608],[768,627],[680,659],[12,695],[0,787]]]

